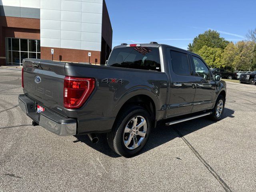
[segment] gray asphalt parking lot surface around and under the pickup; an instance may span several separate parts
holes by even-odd
[[[158,126],[134,158],[104,135],[59,137],[18,107],[21,71],[0,69],[0,192],[256,191],[256,86],[227,82],[224,117]]]

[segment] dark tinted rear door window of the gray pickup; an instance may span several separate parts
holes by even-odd
[[[171,51],[172,70],[178,75],[191,75],[188,55],[186,53]]]

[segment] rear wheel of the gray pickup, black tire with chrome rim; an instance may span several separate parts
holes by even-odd
[[[135,156],[148,141],[152,126],[150,114],[140,106],[131,106],[117,118],[107,134],[108,145],[121,156]]]

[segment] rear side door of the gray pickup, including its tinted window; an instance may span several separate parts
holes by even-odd
[[[193,108],[196,91],[196,77],[188,52],[168,48],[170,82],[170,100],[167,117],[189,114]]]

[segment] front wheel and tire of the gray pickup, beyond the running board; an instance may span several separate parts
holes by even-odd
[[[222,118],[223,112],[225,108],[225,98],[223,95],[219,95],[215,106],[212,110],[212,114],[209,116],[213,121],[219,121]]]

